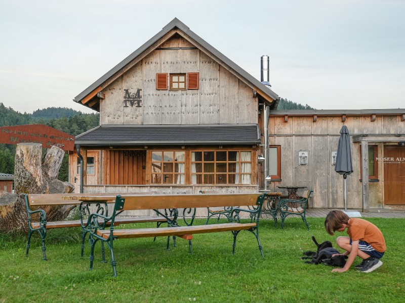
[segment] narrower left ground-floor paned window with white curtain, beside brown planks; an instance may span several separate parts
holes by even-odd
[[[185,184],[185,151],[152,151],[152,184]]]

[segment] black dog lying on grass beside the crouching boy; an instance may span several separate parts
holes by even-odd
[[[323,263],[329,266],[343,267],[346,264],[347,256],[340,255],[339,250],[332,247],[331,241],[325,241],[320,244],[316,241],[315,237],[312,236],[312,241],[317,247],[317,251],[304,251],[304,256],[301,260],[311,259],[311,261],[305,261],[308,264],[319,264]],[[338,256],[332,257],[334,254],[339,254]]]

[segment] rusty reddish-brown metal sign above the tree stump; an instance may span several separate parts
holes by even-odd
[[[75,137],[43,124],[0,127],[0,143],[41,143],[42,147],[56,145],[63,150],[74,149]]]

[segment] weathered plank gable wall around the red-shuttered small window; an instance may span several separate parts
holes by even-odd
[[[179,49],[161,49],[168,47]],[[175,35],[105,87],[100,124],[258,123],[252,88],[193,47]],[[198,90],[156,90],[156,73],[187,72],[199,72]],[[142,89],[142,107],[124,107],[125,89]]]

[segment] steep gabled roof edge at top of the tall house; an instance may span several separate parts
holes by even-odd
[[[161,31],[159,31],[156,35],[154,35],[152,38],[150,38],[146,43],[144,43],[141,47],[139,47],[134,53],[129,55],[123,61],[118,63],[114,68],[112,68],[110,71],[108,71],[105,75],[103,75],[100,79],[98,79],[96,82],[94,82],[88,88],[86,88],[84,91],[79,93],[73,99],[74,102],[81,103],[87,107],[98,110],[98,108],[94,108],[91,105],[89,105],[89,102],[90,102],[90,100],[93,100],[94,98],[98,98],[97,93],[101,89],[104,88],[103,84],[110,78],[113,78],[113,77],[116,78],[116,77],[120,76],[121,74],[123,74],[125,72],[125,67],[128,64],[130,64],[132,61],[134,61],[138,57],[140,57],[145,51],[147,51],[148,48],[153,46],[159,39],[163,38],[169,31],[175,30],[175,29],[179,29],[184,34],[186,34],[188,37],[190,37],[192,40],[194,40],[196,42],[196,44],[198,44],[198,46],[199,46],[198,48],[200,48],[201,51],[203,51],[205,53],[211,53],[214,57],[216,57],[216,61],[220,65],[222,65],[224,67],[228,66],[231,70],[233,70],[233,72],[239,79],[241,79],[247,85],[252,87],[252,89],[257,91],[259,98],[261,98],[264,102],[271,104],[274,100],[276,100],[278,98],[278,95],[276,93],[274,93],[271,89],[269,89],[267,86],[262,84],[259,80],[254,78],[252,75],[250,75],[244,69],[240,68],[237,64],[235,64],[230,59],[228,59],[226,56],[224,56],[222,53],[220,53],[216,48],[214,48],[212,45],[207,43],[204,39],[200,38],[198,35],[196,35],[194,32],[192,32],[189,29],[189,27],[186,26],[179,19],[174,18]],[[168,37],[168,38],[170,38],[170,37]],[[190,42],[192,42],[192,41],[190,41]],[[159,43],[159,44],[161,44],[161,43]],[[157,48],[158,46],[159,45],[155,45],[154,48]]]

